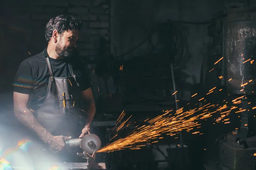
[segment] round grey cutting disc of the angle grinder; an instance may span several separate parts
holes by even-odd
[[[81,140],[81,149],[87,153],[98,151],[101,147],[101,141],[95,134],[87,134]]]

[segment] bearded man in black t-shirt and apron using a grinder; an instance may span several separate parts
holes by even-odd
[[[90,133],[96,111],[86,69],[74,56],[81,26],[70,15],[50,19],[45,28],[47,48],[21,62],[15,76],[15,117],[55,152],[71,136]],[[86,105],[88,116],[78,129],[81,105]]]

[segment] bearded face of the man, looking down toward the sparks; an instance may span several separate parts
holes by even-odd
[[[59,55],[59,57],[63,59],[68,59],[73,56],[76,49],[76,41],[79,38],[79,31],[67,30],[64,31],[56,42],[55,52]]]

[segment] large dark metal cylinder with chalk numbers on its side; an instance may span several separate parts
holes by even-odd
[[[225,37],[228,92],[256,94],[256,9],[229,10]]]

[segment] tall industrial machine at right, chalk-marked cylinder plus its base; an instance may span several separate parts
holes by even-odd
[[[218,82],[214,84],[225,86],[232,99],[239,99],[239,103],[235,104],[241,110],[240,130],[234,129],[219,141],[218,168],[255,170],[256,9],[229,9],[208,28],[208,35],[214,40],[213,60],[224,57],[215,66],[216,76],[223,75],[224,78],[217,78]],[[208,60],[212,62],[211,57]],[[210,68],[214,68],[213,63]]]

